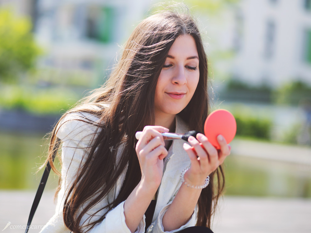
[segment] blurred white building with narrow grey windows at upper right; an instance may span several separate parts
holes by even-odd
[[[250,84],[311,85],[310,0],[241,0],[233,28],[233,76]]]

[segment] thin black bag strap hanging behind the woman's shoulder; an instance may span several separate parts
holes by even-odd
[[[57,142],[54,146],[54,148],[58,147],[60,144],[60,139],[58,138],[57,139]],[[54,149],[53,148],[53,149]],[[57,153],[57,150],[54,150],[53,151],[53,154],[52,154],[52,161],[54,162],[54,158],[56,156],[56,153]],[[37,207],[39,205],[39,202],[40,202],[40,199],[41,199],[41,196],[42,196],[42,193],[43,193],[43,190],[44,190],[44,187],[46,185],[46,181],[48,180],[48,177],[49,177],[49,173],[51,171],[51,164],[50,162],[48,161],[48,163],[46,164],[46,167],[44,169],[44,172],[43,172],[43,175],[42,175],[42,178],[41,178],[41,181],[40,181],[40,184],[39,184],[39,187],[38,187],[38,190],[37,190],[37,193],[35,195],[35,200],[34,202],[32,203],[32,207],[31,207],[31,210],[30,210],[30,214],[29,214],[29,218],[28,218],[28,222],[27,222],[27,228],[25,230],[25,233],[28,232],[29,230],[29,227],[30,227],[30,224],[31,224],[31,221],[35,215],[35,212],[37,210]]]

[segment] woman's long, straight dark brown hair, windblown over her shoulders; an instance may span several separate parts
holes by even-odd
[[[51,132],[49,155],[45,164],[49,161],[53,171],[60,175],[56,196],[60,188],[61,174],[52,162],[52,153],[53,149],[58,149],[54,146],[60,122],[72,112],[88,112],[98,116],[100,122],[104,122],[104,124],[96,123],[99,130],[88,147],[86,162],[77,171],[77,178],[65,197],[63,219],[71,231],[75,233],[82,231],[80,226],[82,216],[114,188],[116,180],[127,165],[120,193],[104,208],[111,210],[116,207],[128,198],[139,183],[141,172],[135,152],[137,143],[135,132],[142,131],[144,126],[155,124],[154,96],[157,80],[170,47],[178,36],[184,34],[193,36],[196,42],[200,77],[193,98],[178,115],[188,123],[190,129],[203,132],[209,98],[207,57],[201,34],[196,21],[189,13],[171,10],[149,16],[134,29],[124,46],[120,61],[106,84],[66,112]],[[103,108],[101,105],[103,103],[106,103],[107,107]],[[95,110],[92,106],[97,106],[100,110]],[[124,150],[120,159],[116,161],[117,150],[112,148],[118,148],[121,143],[124,143]],[[213,184],[215,174],[216,187]],[[224,174],[221,167],[218,167],[210,178],[210,185],[202,190],[198,200],[197,226],[210,227],[211,215],[224,188]],[[94,194],[97,194],[95,198]],[[86,203],[91,197],[94,199],[87,202],[86,207],[79,212],[81,204]],[[104,218],[105,214],[86,226],[91,229]]]

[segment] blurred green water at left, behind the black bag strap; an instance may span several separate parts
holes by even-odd
[[[0,131],[0,189],[37,189],[47,152],[44,133],[22,134]],[[57,161],[57,159],[55,159]],[[56,187],[56,178],[51,172],[51,188]],[[46,186],[48,189],[49,185]]]

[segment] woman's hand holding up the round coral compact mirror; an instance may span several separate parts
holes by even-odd
[[[206,177],[215,171],[230,154],[231,146],[227,144],[225,138],[218,135],[217,140],[220,150],[217,150],[203,134],[197,134],[197,139],[190,136],[188,142],[193,146],[196,153],[190,145],[183,144],[183,148],[191,160],[191,167],[185,174],[187,183],[193,185],[204,184]],[[202,147],[200,143],[202,143]]]

